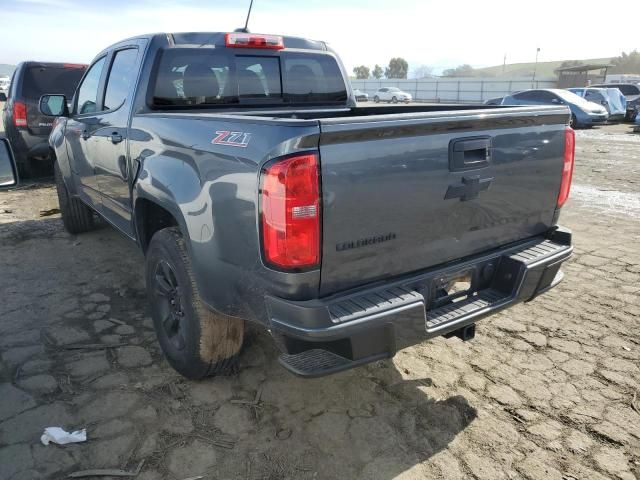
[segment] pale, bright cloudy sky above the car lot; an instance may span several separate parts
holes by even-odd
[[[0,0],[0,63],[22,60],[89,63],[103,48],[150,32],[233,31],[249,0]],[[386,66],[434,73],[474,67],[617,56],[640,49],[640,27],[629,28],[638,0],[615,11],[580,0],[254,0],[249,29],[328,42],[349,72]],[[616,13],[618,12],[618,13]],[[611,14],[613,18],[602,18]],[[614,28],[615,18],[621,19]],[[636,22],[636,25],[638,23]]]

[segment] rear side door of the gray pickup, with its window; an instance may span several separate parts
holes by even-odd
[[[93,133],[94,167],[102,193],[102,215],[129,236],[133,236],[133,227],[127,137],[135,79],[142,57],[139,42],[109,54],[103,108],[98,115],[99,127]]]

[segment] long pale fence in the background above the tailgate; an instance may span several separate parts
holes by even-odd
[[[373,100],[375,92],[382,87],[398,87],[425,102],[482,103],[490,98],[504,97],[529,88],[556,88],[555,78],[423,78],[416,80],[367,79],[351,80],[353,88],[369,94]]]

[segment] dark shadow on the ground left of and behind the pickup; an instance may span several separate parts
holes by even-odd
[[[437,365],[428,359],[411,354],[402,362],[302,379],[279,365],[270,335],[255,325],[248,325],[233,375],[184,379],[158,348],[148,321],[142,256],[128,240],[111,229],[68,235],[59,218],[48,217],[0,225],[0,244],[0,264],[10,277],[0,286],[11,293],[0,331],[20,342],[16,335],[39,332],[28,344],[0,348],[12,362],[5,380],[27,378],[20,370],[24,362],[51,361],[39,373],[50,374],[58,387],[38,403],[64,404],[69,417],[60,420],[68,423],[63,426],[89,424],[94,438],[113,422],[129,425],[112,438],[67,446],[75,460],[56,467],[61,476],[79,468],[135,467],[142,459],[145,471],[158,473],[149,478],[386,480],[414,470],[425,476],[423,469],[429,473],[433,466],[423,463],[477,418],[463,396],[434,397],[428,372]],[[108,306],[104,318],[126,328],[115,324],[99,332],[105,321],[94,320],[100,310],[89,300],[98,293],[108,299],[101,300]],[[99,344],[114,333],[119,343],[147,350],[149,361],[127,363],[116,348],[68,350],[69,344]],[[23,353],[29,358],[18,358]],[[104,390],[107,384],[112,387]],[[140,420],[141,411],[150,416]],[[31,423],[22,441],[37,442],[43,425]],[[232,440],[232,448],[216,445],[221,435]],[[182,457],[189,461],[176,460]]]

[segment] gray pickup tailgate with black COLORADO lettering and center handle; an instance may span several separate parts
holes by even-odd
[[[564,107],[320,120],[321,295],[545,232]]]

